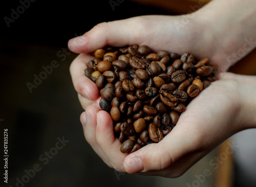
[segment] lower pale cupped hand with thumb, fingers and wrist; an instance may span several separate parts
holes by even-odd
[[[96,105],[89,105],[81,114],[84,136],[103,161],[117,171],[177,177],[234,133],[256,126],[256,110],[245,99],[255,92],[256,88],[249,86],[255,79],[222,73],[187,105],[162,141],[134,153],[120,152],[121,143],[114,137],[110,115]]]

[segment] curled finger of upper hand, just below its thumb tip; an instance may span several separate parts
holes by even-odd
[[[84,75],[84,69],[87,68],[87,62],[92,59],[86,54],[78,55],[70,66],[70,74],[75,90],[80,95],[95,100],[98,98],[99,90],[94,82]]]

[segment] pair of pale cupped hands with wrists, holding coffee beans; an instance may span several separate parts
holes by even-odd
[[[84,136],[109,167],[120,172],[178,177],[234,133],[256,127],[256,77],[221,72],[232,65],[227,57],[242,48],[246,38],[256,41],[255,10],[252,0],[215,0],[179,30],[175,22],[186,15],[140,16],[100,23],[69,41],[69,48],[80,54],[70,72],[86,111],[80,117]],[[134,44],[148,45],[153,51],[189,51],[198,59],[208,57],[211,64],[219,65],[221,73],[218,81],[189,103],[176,127],[161,142],[124,154],[114,137],[110,115],[98,106],[98,88],[83,70],[93,58],[90,52],[106,45]]]

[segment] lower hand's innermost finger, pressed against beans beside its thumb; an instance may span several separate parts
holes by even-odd
[[[117,171],[125,172],[123,160],[127,153],[121,153],[121,143],[114,136],[113,120],[105,111],[97,113],[96,139],[105,155],[109,158],[110,167]]]

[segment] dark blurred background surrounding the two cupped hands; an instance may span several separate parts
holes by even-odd
[[[184,14],[195,5],[197,1],[186,0],[2,3],[0,186],[249,186],[233,155],[226,152],[232,140],[210,152],[183,176],[167,179],[116,172],[101,161],[83,136],[79,120],[83,110],[69,73],[77,54],[69,51],[68,40],[103,21]],[[242,66],[244,62],[253,64],[254,54],[255,50],[230,71],[255,75],[256,68]],[[4,129],[8,129],[8,183],[3,178]],[[206,170],[210,174],[203,177]]]

